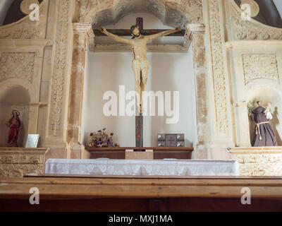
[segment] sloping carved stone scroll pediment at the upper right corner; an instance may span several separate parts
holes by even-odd
[[[250,20],[243,20],[241,18],[243,11],[234,1],[230,2],[234,40],[282,40],[281,28],[272,28],[252,18]]]

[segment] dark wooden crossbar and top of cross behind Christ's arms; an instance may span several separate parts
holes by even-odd
[[[142,17],[138,17],[136,18],[136,25],[139,25],[140,27],[140,31],[142,33],[142,35],[154,35],[157,34],[159,32],[163,32],[167,29],[143,29],[143,18]],[[132,36],[130,33],[130,30],[128,29],[107,29],[109,32],[111,32],[114,35],[118,35],[118,36]],[[98,29],[94,29],[94,35],[95,37],[97,36],[106,36],[104,35],[102,32],[100,32]],[[184,36],[185,35],[185,30],[181,30],[179,32],[175,32],[171,35],[167,35],[167,36]]]

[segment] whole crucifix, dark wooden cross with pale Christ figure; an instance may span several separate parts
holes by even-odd
[[[135,77],[135,91],[136,91],[136,102],[138,115],[135,118],[135,141],[136,147],[142,148],[143,146],[143,117],[142,117],[142,92],[145,90],[148,79],[148,69],[149,62],[147,60],[147,42],[149,40],[154,40],[157,37],[163,37],[166,35],[177,34],[184,35],[183,32],[180,32],[180,28],[173,30],[143,30],[143,18],[137,18],[136,24],[131,26],[130,30],[111,30],[109,32],[105,28],[98,28],[99,32],[104,35],[111,37],[116,42],[121,42],[128,44],[132,47],[133,51],[133,60],[132,68]],[[116,34],[115,34],[116,33]],[[97,31],[94,30],[94,34],[97,34]],[[120,36],[132,36],[131,40],[120,37]],[[136,149],[138,151],[142,149]]]

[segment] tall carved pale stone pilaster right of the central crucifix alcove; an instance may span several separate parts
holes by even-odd
[[[207,68],[209,70],[209,110],[212,142],[211,148],[233,147],[233,117],[228,81],[225,46],[225,1],[206,2],[207,16]]]

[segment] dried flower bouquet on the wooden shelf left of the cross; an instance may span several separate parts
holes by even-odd
[[[106,147],[119,147],[118,143],[114,142],[114,133],[108,135],[106,128],[100,129],[97,132],[90,133],[90,143],[89,148],[106,148]]]

